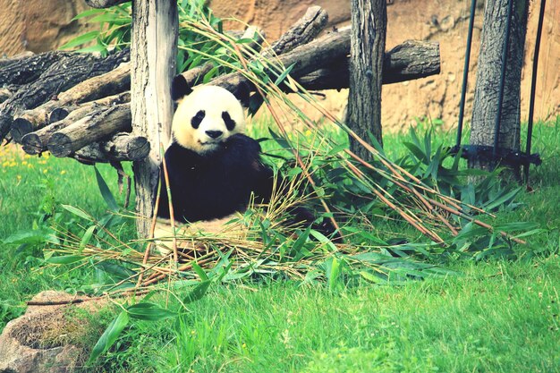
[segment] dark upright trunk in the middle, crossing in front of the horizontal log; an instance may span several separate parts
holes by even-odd
[[[363,140],[369,132],[382,144],[381,83],[386,38],[386,0],[352,0],[350,93],[347,125]],[[364,159],[369,151],[351,137],[351,150]]]

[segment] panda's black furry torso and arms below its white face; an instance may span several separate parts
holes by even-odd
[[[267,201],[274,174],[260,162],[259,142],[242,133],[229,137],[209,154],[198,154],[177,142],[167,148],[165,163],[175,219],[212,220],[243,211],[253,192]],[[158,216],[169,217],[169,202],[162,176]]]

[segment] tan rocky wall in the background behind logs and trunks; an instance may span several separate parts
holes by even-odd
[[[390,2],[391,3],[391,2]],[[470,118],[472,92],[479,48],[483,1],[479,1],[471,56],[471,74],[466,118]],[[547,4],[539,62],[536,118],[560,114],[560,0]],[[269,40],[275,40],[311,4],[324,7],[331,27],[347,24],[348,0],[212,0],[210,6],[222,17],[235,17],[259,25]],[[394,0],[387,6],[387,40],[390,49],[406,39],[437,40],[441,47],[442,72],[437,77],[384,86],[383,125],[400,130],[415,123],[415,118],[442,119],[445,127],[456,125],[461,92],[462,65],[467,38],[470,1]],[[83,0],[0,0],[0,55],[17,55],[55,49],[95,25],[72,21],[87,9]],[[531,2],[525,65],[522,78],[522,119],[527,118],[530,69],[536,35],[539,2]],[[238,28],[238,27],[236,27]],[[328,92],[325,106],[342,114],[347,92]]]

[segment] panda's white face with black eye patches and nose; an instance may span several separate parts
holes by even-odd
[[[172,124],[174,140],[199,154],[216,150],[235,133],[245,131],[243,107],[231,92],[198,86],[177,100]]]

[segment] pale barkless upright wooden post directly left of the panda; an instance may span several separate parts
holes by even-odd
[[[137,0],[132,2],[131,43],[131,110],[132,128],[146,136],[151,145],[149,156],[134,162],[136,211],[150,217],[153,212],[154,191],[160,142],[169,141],[173,101],[170,85],[175,74],[177,58],[178,15],[174,0]],[[148,219],[138,219],[139,237],[148,235]]]

